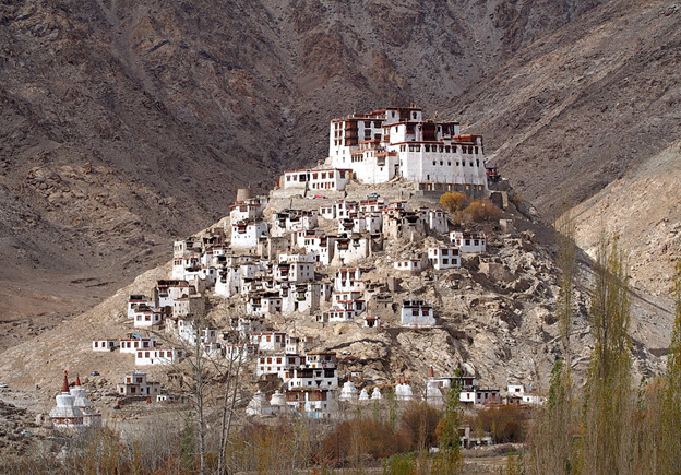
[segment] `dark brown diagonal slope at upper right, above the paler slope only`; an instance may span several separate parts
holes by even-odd
[[[681,5],[618,0],[523,49],[450,109],[555,216],[681,135]]]

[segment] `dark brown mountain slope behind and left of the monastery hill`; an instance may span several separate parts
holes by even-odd
[[[83,308],[223,215],[237,185],[323,157],[330,117],[433,114],[594,4],[3,2],[0,299]]]

